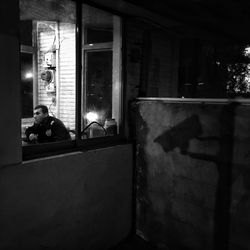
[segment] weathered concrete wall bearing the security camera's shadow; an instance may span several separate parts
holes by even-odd
[[[250,106],[149,99],[134,110],[138,234],[171,250],[250,249]]]

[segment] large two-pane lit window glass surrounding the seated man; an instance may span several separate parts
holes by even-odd
[[[40,144],[25,134],[38,104],[64,124],[70,145],[120,134],[120,18],[70,0],[19,3],[24,148]]]

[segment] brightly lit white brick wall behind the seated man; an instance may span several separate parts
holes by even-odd
[[[42,22],[41,22],[42,23]],[[45,22],[46,23],[46,22]],[[36,24],[37,25],[37,24]],[[57,32],[57,31],[56,31]],[[38,57],[38,104],[49,107],[50,115],[55,115],[69,129],[75,127],[75,24],[58,24],[59,49],[56,50],[57,69],[54,71],[56,91],[46,90],[46,83],[41,79],[41,73],[47,69],[44,66],[45,53],[52,47],[55,31],[40,32],[37,35]],[[55,100],[54,100],[55,99]],[[54,102],[53,102],[54,100]]]

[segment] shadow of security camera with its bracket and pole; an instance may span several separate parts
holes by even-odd
[[[220,137],[202,137],[202,125],[198,115],[192,115],[175,127],[158,136],[154,142],[159,143],[165,153],[180,148],[181,153],[195,159],[211,161],[216,164],[218,183],[214,212],[214,249],[229,249],[230,204],[232,193],[232,166],[234,148],[234,117],[237,103],[231,103],[220,114]],[[217,155],[188,152],[192,139],[200,141],[216,140],[220,150]]]

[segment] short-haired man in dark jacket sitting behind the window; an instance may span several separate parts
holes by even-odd
[[[34,124],[25,131],[30,143],[55,142],[70,140],[70,135],[63,122],[49,116],[45,105],[37,105],[34,111]]]

